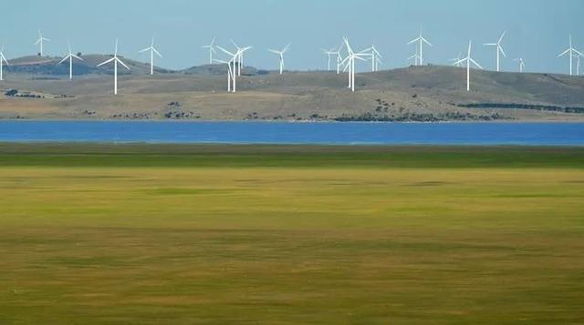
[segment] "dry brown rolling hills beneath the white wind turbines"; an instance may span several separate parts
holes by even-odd
[[[464,68],[412,66],[347,76],[245,67],[238,93],[226,92],[226,66],[182,71],[125,59],[120,95],[112,96],[112,68],[96,65],[110,56],[83,56],[73,81],[60,58],[11,60],[0,89],[1,118],[264,119],[337,121],[584,120],[584,77],[474,70],[472,91]],[[47,80],[48,79],[48,80]],[[12,90],[11,90],[12,89]],[[16,92],[16,93],[15,93]],[[33,96],[18,96],[33,94]]]

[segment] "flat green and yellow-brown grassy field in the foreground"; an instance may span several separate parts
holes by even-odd
[[[0,324],[582,323],[584,148],[0,144]]]

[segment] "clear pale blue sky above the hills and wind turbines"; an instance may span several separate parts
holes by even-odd
[[[568,73],[568,58],[557,56],[568,48],[569,34],[584,50],[582,0],[18,0],[0,10],[0,45],[8,58],[36,54],[37,29],[51,39],[50,56],[63,55],[68,40],[74,52],[112,53],[120,38],[121,55],[147,61],[138,51],[155,36],[163,55],[157,65],[174,69],[206,64],[201,46],[213,37],[229,49],[232,38],[254,46],[245,64],[263,69],[277,67],[266,48],[287,44],[288,69],[326,69],[320,48],[340,46],[343,36],[355,49],[378,46],[382,69],[408,66],[415,49],[406,43],[421,26],[433,44],[424,59],[434,65],[448,64],[472,39],[474,59],[495,69],[495,48],[483,43],[496,42],[503,31],[507,71],[516,71],[513,59],[522,57],[529,72]]]

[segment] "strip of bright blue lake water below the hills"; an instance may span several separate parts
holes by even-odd
[[[584,146],[584,123],[0,121],[0,142]]]

